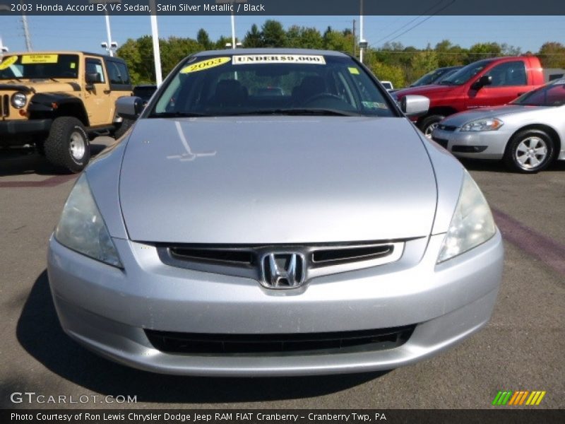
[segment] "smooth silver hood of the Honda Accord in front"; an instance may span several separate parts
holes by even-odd
[[[429,235],[434,171],[404,118],[140,119],[119,195],[131,240],[275,244]]]

